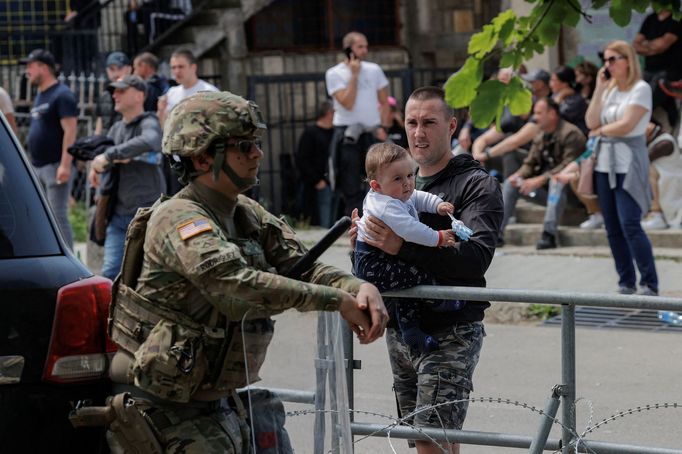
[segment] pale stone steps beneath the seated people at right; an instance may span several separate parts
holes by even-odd
[[[507,226],[504,234],[505,247],[534,246],[542,234],[542,219],[545,208],[534,205],[523,199],[516,206],[516,223]],[[587,218],[585,211],[578,208],[567,208],[559,227],[559,249],[564,247],[585,249],[606,248],[606,230],[584,230],[578,225]],[[656,255],[664,254],[682,258],[682,229],[666,229],[647,231]],[[595,249],[596,252],[596,249]]]

